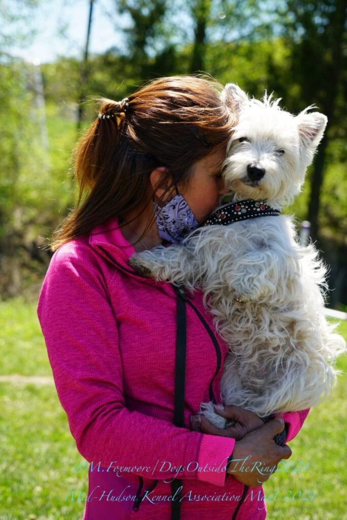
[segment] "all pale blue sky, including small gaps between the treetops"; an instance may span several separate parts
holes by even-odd
[[[279,5],[283,0],[266,1],[267,5],[270,2]],[[182,0],[180,2],[182,3]],[[13,33],[16,30],[16,23],[19,32],[25,32],[25,24],[22,22],[6,24],[1,17],[3,9],[11,11],[12,15],[15,14],[21,3],[23,4],[23,0],[0,0],[0,23],[4,33],[6,30]],[[94,0],[89,43],[91,54],[102,54],[113,46],[117,46],[120,51],[126,50],[123,29],[131,27],[132,22],[130,15],[117,16],[115,5],[117,5],[116,0]],[[24,8],[22,10],[24,11]],[[172,38],[174,43],[181,41],[180,31],[182,30],[190,31],[192,36],[191,21],[183,11],[178,9],[171,20],[177,29],[175,38]],[[89,0],[38,0],[38,7],[27,17],[29,27],[36,29],[36,35],[30,38],[30,44],[11,45],[8,53],[37,64],[55,61],[57,56],[82,58],[86,41],[88,14]],[[223,18],[220,15],[224,15],[224,13],[220,12],[217,15]],[[21,27],[19,23],[22,23]],[[235,31],[230,31],[229,36],[235,36],[234,33]]]

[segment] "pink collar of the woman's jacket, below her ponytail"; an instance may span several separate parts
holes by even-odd
[[[110,218],[95,227],[89,233],[89,245],[110,264],[126,272],[129,276],[147,281],[150,284],[160,283],[152,278],[144,278],[137,275],[134,269],[128,265],[127,261],[135,253],[135,249],[134,246],[123,237],[117,217]]]

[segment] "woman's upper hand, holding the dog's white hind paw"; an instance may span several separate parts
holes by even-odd
[[[220,428],[213,426],[204,415],[199,414],[190,416],[191,430],[241,440],[247,433],[264,426],[264,421],[258,415],[239,406],[229,405],[225,406],[223,410],[215,406],[214,409],[216,413],[222,415],[225,419],[235,421],[233,426],[220,430]],[[201,420],[200,423],[199,418]]]

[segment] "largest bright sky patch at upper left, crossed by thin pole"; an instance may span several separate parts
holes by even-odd
[[[117,18],[113,6],[114,0],[94,2],[89,43],[91,53],[102,53],[113,45],[122,48],[121,27],[127,20],[124,17]],[[40,63],[54,61],[58,55],[82,57],[88,14],[89,0],[41,0],[40,8],[30,20],[37,28],[37,35],[30,45],[12,45],[10,54]],[[64,27],[65,36],[61,36],[59,33]]]

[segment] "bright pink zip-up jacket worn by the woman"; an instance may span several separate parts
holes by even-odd
[[[54,253],[38,301],[59,400],[90,463],[83,519],[169,520],[171,480],[179,478],[181,520],[263,520],[262,487],[248,488],[225,471],[235,440],[189,430],[201,402],[221,402],[227,354],[202,293],[189,293],[186,305],[185,427],[179,428],[173,424],[176,294],[169,283],[135,274],[127,264],[134,252],[117,219],[109,220]],[[307,413],[282,416],[287,441]]]

